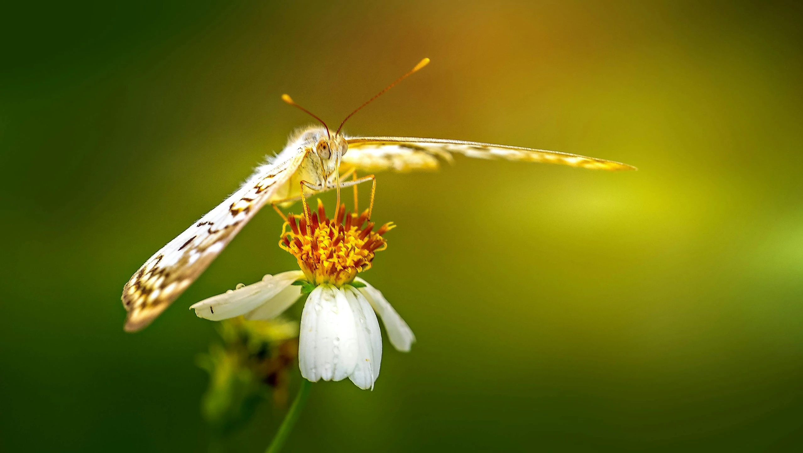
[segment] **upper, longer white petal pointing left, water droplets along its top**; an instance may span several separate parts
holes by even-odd
[[[190,308],[195,310],[196,315],[208,320],[233,318],[251,312],[259,305],[270,303],[274,296],[302,277],[304,277],[302,271],[265,275],[261,281],[255,284],[210,297]]]

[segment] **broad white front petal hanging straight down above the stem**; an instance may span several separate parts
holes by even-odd
[[[309,381],[340,381],[357,363],[357,323],[342,290],[320,285],[301,313],[299,367]]]

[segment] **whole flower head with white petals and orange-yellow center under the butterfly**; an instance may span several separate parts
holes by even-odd
[[[361,216],[348,214],[346,222],[344,214],[341,206],[330,220],[323,206],[319,206],[310,222],[303,220],[297,225],[296,218],[290,217],[287,225],[292,232],[283,232],[280,245],[296,256],[303,271],[265,275],[262,281],[238,285],[234,291],[202,300],[190,308],[208,320],[241,315],[248,320],[268,320],[298,300],[302,287],[297,285],[303,284],[309,295],[301,314],[301,375],[312,382],[349,377],[361,389],[372,389],[382,359],[377,314],[396,349],[410,351],[415,336],[385,296],[356,277],[357,272],[371,266],[374,251],[384,250],[386,243],[381,235],[392,224],[373,232],[371,222],[362,228],[367,211]]]

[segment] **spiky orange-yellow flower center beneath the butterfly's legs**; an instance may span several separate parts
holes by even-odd
[[[347,213],[342,204],[330,219],[319,199],[318,211],[312,215],[287,216],[279,247],[296,257],[310,283],[349,284],[358,272],[371,268],[374,252],[388,246],[382,235],[396,227],[393,222],[378,231],[373,231],[373,222],[363,227],[368,212]],[[286,231],[287,226],[291,231]]]

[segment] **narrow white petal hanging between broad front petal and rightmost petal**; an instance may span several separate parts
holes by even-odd
[[[342,290],[351,304],[354,319],[357,321],[357,363],[349,376],[354,385],[361,389],[373,389],[373,382],[379,377],[382,361],[382,334],[377,315],[365,296],[356,288],[346,286]]]

